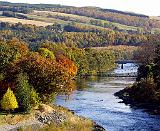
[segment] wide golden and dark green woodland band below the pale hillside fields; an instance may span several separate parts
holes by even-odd
[[[146,35],[128,34],[100,28],[69,24],[54,24],[47,27],[23,25],[21,23],[0,23],[0,36],[4,39],[17,37],[35,49],[46,40],[65,43],[70,47],[97,47],[107,45],[140,45],[147,40]]]

